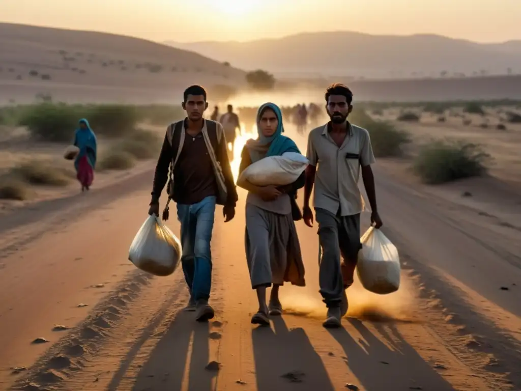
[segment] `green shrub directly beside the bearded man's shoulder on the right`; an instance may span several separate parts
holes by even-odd
[[[362,109],[354,109],[349,118],[352,124],[367,129],[376,157],[402,156],[404,144],[410,142],[406,132],[386,121],[373,120]]]

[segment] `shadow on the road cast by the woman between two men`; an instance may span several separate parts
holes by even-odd
[[[275,331],[268,327],[252,331],[258,391],[334,391],[304,329],[289,331],[282,317],[272,319]]]

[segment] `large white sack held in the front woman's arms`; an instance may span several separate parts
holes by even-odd
[[[307,158],[296,152],[268,156],[247,166],[238,182],[247,180],[256,186],[289,185],[299,179],[308,164]]]

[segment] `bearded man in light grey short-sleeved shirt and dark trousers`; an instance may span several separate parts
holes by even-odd
[[[324,326],[339,327],[341,317],[348,310],[345,289],[353,283],[358,251],[362,247],[360,213],[364,210],[364,200],[358,188],[360,173],[371,205],[371,223],[380,228],[382,222],[376,205],[371,169],[375,156],[369,133],[347,120],[353,109],[353,94],[345,85],[332,84],[325,97],[331,121],[309,133],[303,218],[307,226],[313,225],[309,199],[315,185],[313,201],[322,250],[320,294],[328,308]]]

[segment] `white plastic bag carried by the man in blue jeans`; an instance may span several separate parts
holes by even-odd
[[[155,276],[172,274],[181,261],[181,243],[155,216],[148,216],[135,235],[129,260],[144,272]]]

